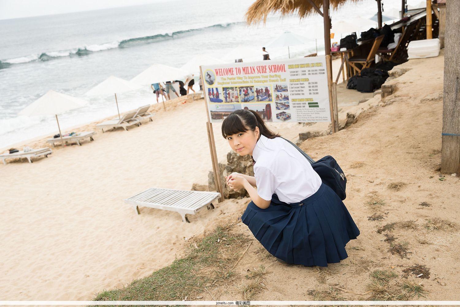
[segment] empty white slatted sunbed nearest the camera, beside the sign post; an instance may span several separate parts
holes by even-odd
[[[176,211],[183,222],[190,223],[186,214],[196,214],[203,207],[214,209],[212,203],[219,197],[219,192],[152,188],[125,199],[125,203],[133,205],[138,214],[139,206]]]

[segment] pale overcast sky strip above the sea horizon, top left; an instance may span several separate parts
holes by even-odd
[[[0,0],[0,19],[92,11],[166,0]]]

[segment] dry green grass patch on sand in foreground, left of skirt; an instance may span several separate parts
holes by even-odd
[[[186,296],[208,292],[234,277],[233,265],[248,239],[232,231],[233,225],[218,226],[200,243],[191,244],[189,254],[176,259],[145,278],[122,289],[104,290],[95,301],[181,301]]]

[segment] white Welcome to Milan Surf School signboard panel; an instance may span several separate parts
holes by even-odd
[[[330,122],[325,57],[201,66],[211,122],[250,109],[267,122]]]

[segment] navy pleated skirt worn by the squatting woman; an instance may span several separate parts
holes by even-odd
[[[346,243],[359,235],[340,197],[324,183],[299,203],[281,202],[276,194],[267,209],[250,202],[241,219],[271,255],[304,266],[344,260]]]

